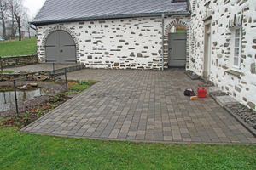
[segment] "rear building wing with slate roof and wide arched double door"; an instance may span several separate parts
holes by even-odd
[[[178,46],[176,65],[187,64],[189,21],[189,4],[184,0],[46,0],[32,24],[37,26],[42,62],[160,70],[168,68],[168,34],[177,25],[188,34],[177,42],[183,46]]]

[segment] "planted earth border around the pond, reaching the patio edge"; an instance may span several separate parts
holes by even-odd
[[[79,81],[69,80],[67,81],[69,85],[76,84],[80,85]],[[92,86],[97,81],[87,80],[88,85]],[[25,127],[26,125],[34,122],[39,117],[44,116],[49,111],[52,111],[59,105],[71,99],[75,94],[79,94],[82,90],[73,89],[72,86],[66,88],[66,81],[57,79],[56,82],[36,82],[36,81],[17,81],[17,86],[24,86],[28,83],[38,83],[38,87],[44,87],[49,95],[41,95],[35,99],[27,100],[19,104],[19,114],[16,114],[15,106],[13,106],[9,111],[4,111],[0,113],[0,127],[9,125],[15,127]],[[0,82],[0,86],[13,85],[12,81]],[[68,90],[66,92],[66,89]],[[65,92],[65,93],[64,93]]]

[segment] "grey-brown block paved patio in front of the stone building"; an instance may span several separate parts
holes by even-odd
[[[236,119],[207,98],[190,100],[197,89],[184,70],[81,70],[68,79],[98,80],[20,132],[91,139],[166,143],[256,144]]]

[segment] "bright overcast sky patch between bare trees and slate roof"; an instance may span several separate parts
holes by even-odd
[[[29,16],[35,17],[45,0],[24,0],[23,5],[29,9]]]

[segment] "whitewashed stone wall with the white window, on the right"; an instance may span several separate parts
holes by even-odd
[[[204,14],[212,10],[210,80],[244,105],[256,104],[256,1],[192,0],[189,70],[202,76],[204,59]],[[230,74],[232,42],[229,20],[242,16],[241,68]]]

